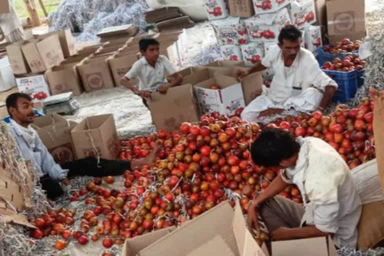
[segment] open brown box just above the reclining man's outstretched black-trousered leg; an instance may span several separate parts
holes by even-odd
[[[71,130],[76,159],[100,156],[115,160],[119,141],[112,114],[86,117]]]

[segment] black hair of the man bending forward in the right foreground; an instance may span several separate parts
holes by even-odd
[[[292,157],[300,150],[293,134],[281,129],[266,129],[250,146],[255,164],[265,167],[279,166],[281,160]]]

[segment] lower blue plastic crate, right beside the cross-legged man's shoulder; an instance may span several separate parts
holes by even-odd
[[[324,70],[338,85],[336,92],[334,93],[333,102],[345,103],[356,94],[358,83],[358,71],[353,70],[349,72]]]

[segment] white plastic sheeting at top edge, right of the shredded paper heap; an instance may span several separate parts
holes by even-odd
[[[204,0],[146,0],[146,2],[152,9],[175,6],[193,20],[207,19]]]

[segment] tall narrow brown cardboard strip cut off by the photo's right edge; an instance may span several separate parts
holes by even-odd
[[[381,187],[384,188],[384,91],[371,89],[373,92],[373,133],[378,173]],[[384,189],[383,189],[384,191]]]

